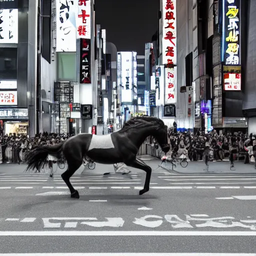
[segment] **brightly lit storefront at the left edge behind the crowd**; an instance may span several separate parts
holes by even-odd
[[[27,108],[0,108],[0,128],[3,134],[27,135]]]

